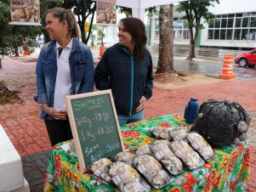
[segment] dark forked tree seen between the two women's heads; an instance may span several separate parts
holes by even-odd
[[[81,30],[81,37],[82,42],[88,43],[88,39],[90,37],[91,31],[92,31],[92,25],[94,21],[94,14],[96,10],[96,2],[91,0],[64,0],[62,3],[63,8],[73,8],[74,14],[77,15],[77,23]],[[84,23],[88,17],[90,17],[90,26],[88,31],[88,37],[86,37],[86,33],[83,30],[84,29]]]

